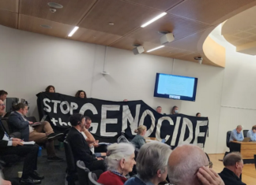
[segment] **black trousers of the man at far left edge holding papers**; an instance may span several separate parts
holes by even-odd
[[[27,179],[29,174],[36,170],[38,145],[24,145],[24,146],[7,146],[0,151],[0,155],[15,154],[24,158],[22,178]]]

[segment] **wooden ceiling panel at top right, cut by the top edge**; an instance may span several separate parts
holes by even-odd
[[[225,1],[201,1],[201,0],[187,0],[170,9],[168,13],[179,17],[186,17],[187,19],[198,20],[206,24],[218,24],[224,20],[220,18],[225,17],[228,13],[232,13],[242,6],[246,6],[254,0],[225,0]],[[216,22],[216,20],[220,20]]]

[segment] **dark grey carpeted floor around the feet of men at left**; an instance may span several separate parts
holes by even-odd
[[[56,148],[56,154],[58,157],[62,157],[65,161],[49,162],[46,157],[46,150],[42,150],[42,157],[38,157],[37,172],[44,176],[42,180],[43,185],[64,185],[66,176],[66,157],[64,150],[58,150]],[[23,161],[7,167],[4,169],[5,179],[17,179],[17,172],[21,172],[23,168]]]

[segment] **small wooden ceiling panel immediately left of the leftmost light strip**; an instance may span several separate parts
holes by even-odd
[[[40,25],[49,25],[52,28],[43,28]],[[43,20],[37,17],[29,17],[20,15],[19,29],[24,31],[32,31],[43,35],[51,35],[56,37],[66,38],[72,31],[73,26],[67,24],[56,23],[50,20]]]

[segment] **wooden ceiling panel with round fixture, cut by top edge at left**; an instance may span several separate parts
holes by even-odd
[[[63,6],[55,13],[50,12],[47,2],[45,0],[21,0],[20,13],[58,23],[77,25],[96,0],[55,0],[54,2]]]

